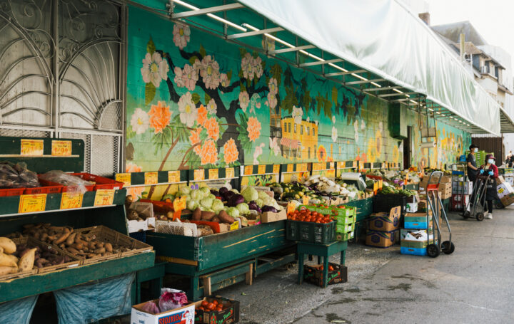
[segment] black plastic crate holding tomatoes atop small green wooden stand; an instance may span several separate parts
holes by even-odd
[[[307,221],[291,221],[286,224],[286,239],[316,244],[328,244],[336,240],[336,221],[328,224]]]

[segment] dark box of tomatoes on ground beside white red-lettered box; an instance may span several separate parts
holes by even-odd
[[[223,298],[220,296],[208,296],[206,298],[203,298],[204,301],[208,301],[208,302],[212,302],[214,299],[216,299],[218,302],[221,301],[221,303],[223,303],[223,306],[226,308],[221,310],[221,312],[217,312],[216,310],[206,311],[206,310],[198,310],[197,309],[196,315],[194,318],[194,323],[195,324],[238,323],[239,308],[240,308],[239,302],[233,301],[231,299]]]

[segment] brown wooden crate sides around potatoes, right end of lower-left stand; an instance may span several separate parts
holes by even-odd
[[[103,225],[86,227],[84,229],[76,229],[76,232],[82,235],[91,236],[94,239],[104,243],[110,243],[112,244],[113,249],[116,249],[116,246],[121,247],[121,249],[126,248],[126,251],[121,251],[117,253],[113,252],[113,254],[109,256],[86,258],[84,259],[84,264],[96,263],[104,260],[109,260],[111,258],[133,256],[134,254],[150,252],[153,249],[152,246],[149,246],[148,244],[144,244],[141,241],[132,239],[130,236],[121,234],[118,231],[114,231],[113,229],[109,229],[109,227]]]

